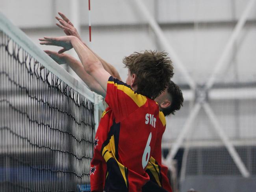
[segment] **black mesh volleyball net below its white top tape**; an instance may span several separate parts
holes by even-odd
[[[0,192],[90,191],[93,106],[0,31]]]

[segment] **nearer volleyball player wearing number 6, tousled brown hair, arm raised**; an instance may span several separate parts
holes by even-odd
[[[107,164],[105,191],[141,191],[149,180],[145,172],[158,129],[165,126],[154,98],[173,76],[171,60],[164,52],[145,51],[124,58],[126,83],[113,78],[100,60],[74,36],[44,37],[41,44],[74,48],[85,71],[102,87],[111,111],[108,123],[100,121],[96,135],[103,137],[101,155]],[[102,123],[103,122],[103,123]],[[99,131],[101,130],[101,131]],[[106,137],[107,136],[107,137]],[[98,140],[100,143],[100,141]],[[91,172],[95,174],[96,166]],[[97,186],[91,177],[91,187]]]

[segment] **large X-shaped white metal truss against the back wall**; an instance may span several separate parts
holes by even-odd
[[[198,89],[196,82],[191,78],[189,73],[187,72],[185,66],[183,65],[182,61],[179,59],[178,55],[174,51],[173,47],[169,44],[169,40],[165,37],[165,34],[161,30],[160,26],[152,17],[152,15],[149,13],[147,7],[141,2],[141,0],[134,0],[134,3],[139,8],[140,12],[143,13],[145,18],[148,21],[148,24],[154,30],[156,33],[156,36],[158,37],[161,45],[165,50],[171,55],[171,58],[173,60],[173,63],[175,67],[180,70],[180,72],[183,74],[184,78],[186,79],[188,85],[190,86],[191,90],[196,92],[197,98],[195,98],[195,105],[193,106],[193,109],[190,111],[190,114],[184,124],[184,127],[180,131],[180,134],[178,135],[176,142],[172,145],[171,149],[169,150],[169,153],[165,159],[163,159],[163,162],[167,164],[167,166],[171,166],[171,161],[176,155],[178,149],[182,145],[182,142],[184,141],[184,138],[186,138],[187,133],[191,129],[191,125],[193,124],[193,121],[198,115],[198,112],[201,108],[203,108],[206,111],[206,114],[210,118],[211,123],[213,124],[213,127],[215,128],[215,131],[218,133],[219,137],[223,141],[225,147],[227,148],[230,156],[232,157],[233,161],[235,162],[237,168],[243,175],[243,177],[249,177],[250,173],[245,167],[245,164],[241,160],[241,157],[237,153],[236,149],[234,148],[234,145],[230,142],[229,138],[227,137],[226,133],[223,131],[223,128],[221,127],[221,124],[219,124],[219,121],[217,120],[217,117],[213,113],[213,110],[211,109],[209,103],[206,100],[208,91],[211,89],[211,87],[214,84],[214,81],[219,74],[220,70],[226,66],[226,59],[227,56],[230,54],[232,47],[234,46],[234,42],[237,40],[237,37],[239,36],[239,33],[241,32],[241,29],[243,28],[247,17],[254,7],[256,0],[250,0],[247,3],[247,6],[245,7],[245,10],[241,14],[241,17],[239,18],[234,30],[232,31],[232,35],[228,39],[228,42],[226,46],[224,47],[223,53],[219,57],[219,61],[217,62],[217,65],[215,69],[213,70],[213,73],[211,74],[210,78],[206,82],[203,89]]]

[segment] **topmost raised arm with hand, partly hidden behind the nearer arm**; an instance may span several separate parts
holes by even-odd
[[[74,25],[72,24],[72,22],[70,22],[70,20],[63,14],[58,12],[58,14],[61,16],[61,18],[56,17],[56,19],[59,21],[58,24],[56,23],[56,25],[63,29],[64,33],[66,35],[73,35],[75,37],[77,37],[78,39],[80,39],[80,41],[82,41],[82,38],[80,37],[78,31],[76,30],[76,28],[74,27]],[[83,42],[83,41],[82,41]],[[85,42],[83,42],[83,44],[100,60],[100,62],[102,63],[103,67],[106,69],[106,71],[109,72],[109,74],[111,74],[113,77],[121,80],[121,77],[118,73],[118,71],[116,70],[116,68],[111,65],[110,63],[106,62],[104,59],[102,59],[100,56],[98,56],[97,54],[95,54],[95,52],[93,52]]]

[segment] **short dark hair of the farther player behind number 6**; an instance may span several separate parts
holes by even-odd
[[[183,94],[180,90],[180,87],[171,80],[168,83],[167,92],[171,95],[172,101],[169,107],[162,109],[162,112],[165,116],[174,114],[175,111],[180,110],[180,107],[183,106],[184,102]]]

